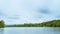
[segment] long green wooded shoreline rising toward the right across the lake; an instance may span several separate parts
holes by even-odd
[[[43,23],[35,23],[35,24],[15,24],[15,25],[7,25],[7,27],[60,27],[60,20],[52,20]]]

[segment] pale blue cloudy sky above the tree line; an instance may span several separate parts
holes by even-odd
[[[60,0],[0,0],[5,24],[40,23],[60,19]]]

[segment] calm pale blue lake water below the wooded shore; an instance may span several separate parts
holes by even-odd
[[[0,34],[60,34],[60,27],[6,27]]]

